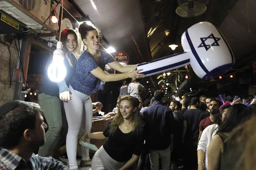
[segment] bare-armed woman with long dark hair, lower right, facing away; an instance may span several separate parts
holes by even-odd
[[[251,109],[240,103],[232,105],[225,114],[222,114],[220,128],[208,146],[208,170],[226,170],[227,164],[230,163],[231,166],[238,161],[239,155],[234,155],[232,161],[227,157],[230,134],[251,115]]]

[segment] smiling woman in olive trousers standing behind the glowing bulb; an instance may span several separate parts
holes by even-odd
[[[74,30],[65,29],[61,32],[61,42],[65,52],[64,64],[67,68],[65,83],[69,85],[75,69],[77,67],[77,34]],[[39,156],[52,156],[58,158],[56,151],[67,135],[67,119],[63,107],[63,102],[59,99],[58,85],[51,81],[47,75],[47,69],[52,62],[49,59],[45,67],[45,73],[39,89],[38,101],[44,111],[44,117],[48,124],[48,131],[45,134],[45,144],[39,148]],[[63,128],[62,128],[63,127]]]

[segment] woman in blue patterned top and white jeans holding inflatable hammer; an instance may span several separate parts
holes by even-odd
[[[137,65],[123,66],[115,61],[109,53],[99,50],[99,34],[95,28],[84,22],[79,26],[79,33],[87,49],[79,57],[77,69],[71,79],[69,88],[60,93],[60,99],[66,102],[64,107],[69,125],[67,155],[71,170],[78,169],[76,157],[79,131],[81,134],[91,132],[93,106],[90,95],[98,91],[101,80],[107,82],[143,77],[143,74],[138,73],[142,69],[135,71]],[[104,73],[103,70],[106,64],[121,72],[121,74]],[[89,142],[89,139],[85,142]],[[91,166],[88,148],[82,148],[80,167],[85,166]]]

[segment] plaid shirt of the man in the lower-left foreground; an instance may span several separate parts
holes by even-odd
[[[68,170],[62,162],[52,157],[36,156],[25,162],[20,156],[0,147],[0,170]]]

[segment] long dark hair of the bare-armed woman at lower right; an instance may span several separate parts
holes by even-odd
[[[251,115],[252,109],[250,107],[240,103],[232,105],[228,109],[217,133],[231,132],[231,130],[246,121]]]

